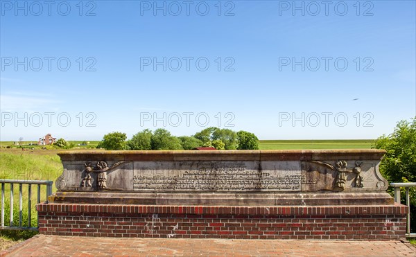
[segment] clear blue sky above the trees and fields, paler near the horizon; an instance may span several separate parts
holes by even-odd
[[[375,139],[416,116],[415,1],[0,2],[1,141]]]

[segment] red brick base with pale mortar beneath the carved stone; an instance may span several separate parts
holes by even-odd
[[[46,235],[126,238],[396,240],[407,207],[37,204]]]

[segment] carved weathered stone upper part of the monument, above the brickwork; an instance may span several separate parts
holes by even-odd
[[[391,197],[384,193],[388,182],[379,173],[383,154],[383,150],[60,152],[64,172],[56,186],[62,192],[136,193],[137,200],[129,200],[135,203],[149,203],[146,194],[155,193],[155,204],[177,204],[180,200],[225,205],[334,204],[354,202],[351,195],[336,195],[378,192],[376,197],[356,198],[361,199],[358,202],[373,199],[374,204],[391,204]],[[98,196],[98,192],[91,195]],[[297,195],[291,196],[293,200],[275,197],[285,193]],[[302,193],[332,194],[321,200],[304,195],[302,202]],[[239,194],[243,195],[240,200]]]

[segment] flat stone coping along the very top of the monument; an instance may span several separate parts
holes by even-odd
[[[381,159],[385,150],[345,149],[345,150],[149,150],[149,151],[106,151],[76,150],[58,152],[62,161],[96,159],[111,161],[299,161],[299,160],[338,160]]]

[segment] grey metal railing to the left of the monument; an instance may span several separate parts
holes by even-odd
[[[38,230],[38,227],[32,227],[31,224],[31,214],[32,214],[32,185],[37,185],[37,203],[40,203],[40,194],[41,194],[41,186],[46,186],[46,202],[48,201],[49,195],[52,195],[52,184],[53,181],[47,180],[12,180],[12,179],[0,179],[1,183],[1,227],[0,229],[14,229],[14,230]],[[4,190],[6,188],[5,184],[10,184],[10,220],[9,226],[4,225],[4,200],[5,194]],[[13,223],[13,194],[14,194],[14,184],[19,184],[19,225],[15,226]],[[23,227],[22,222],[22,213],[23,213],[23,185],[28,185],[28,226]]]

